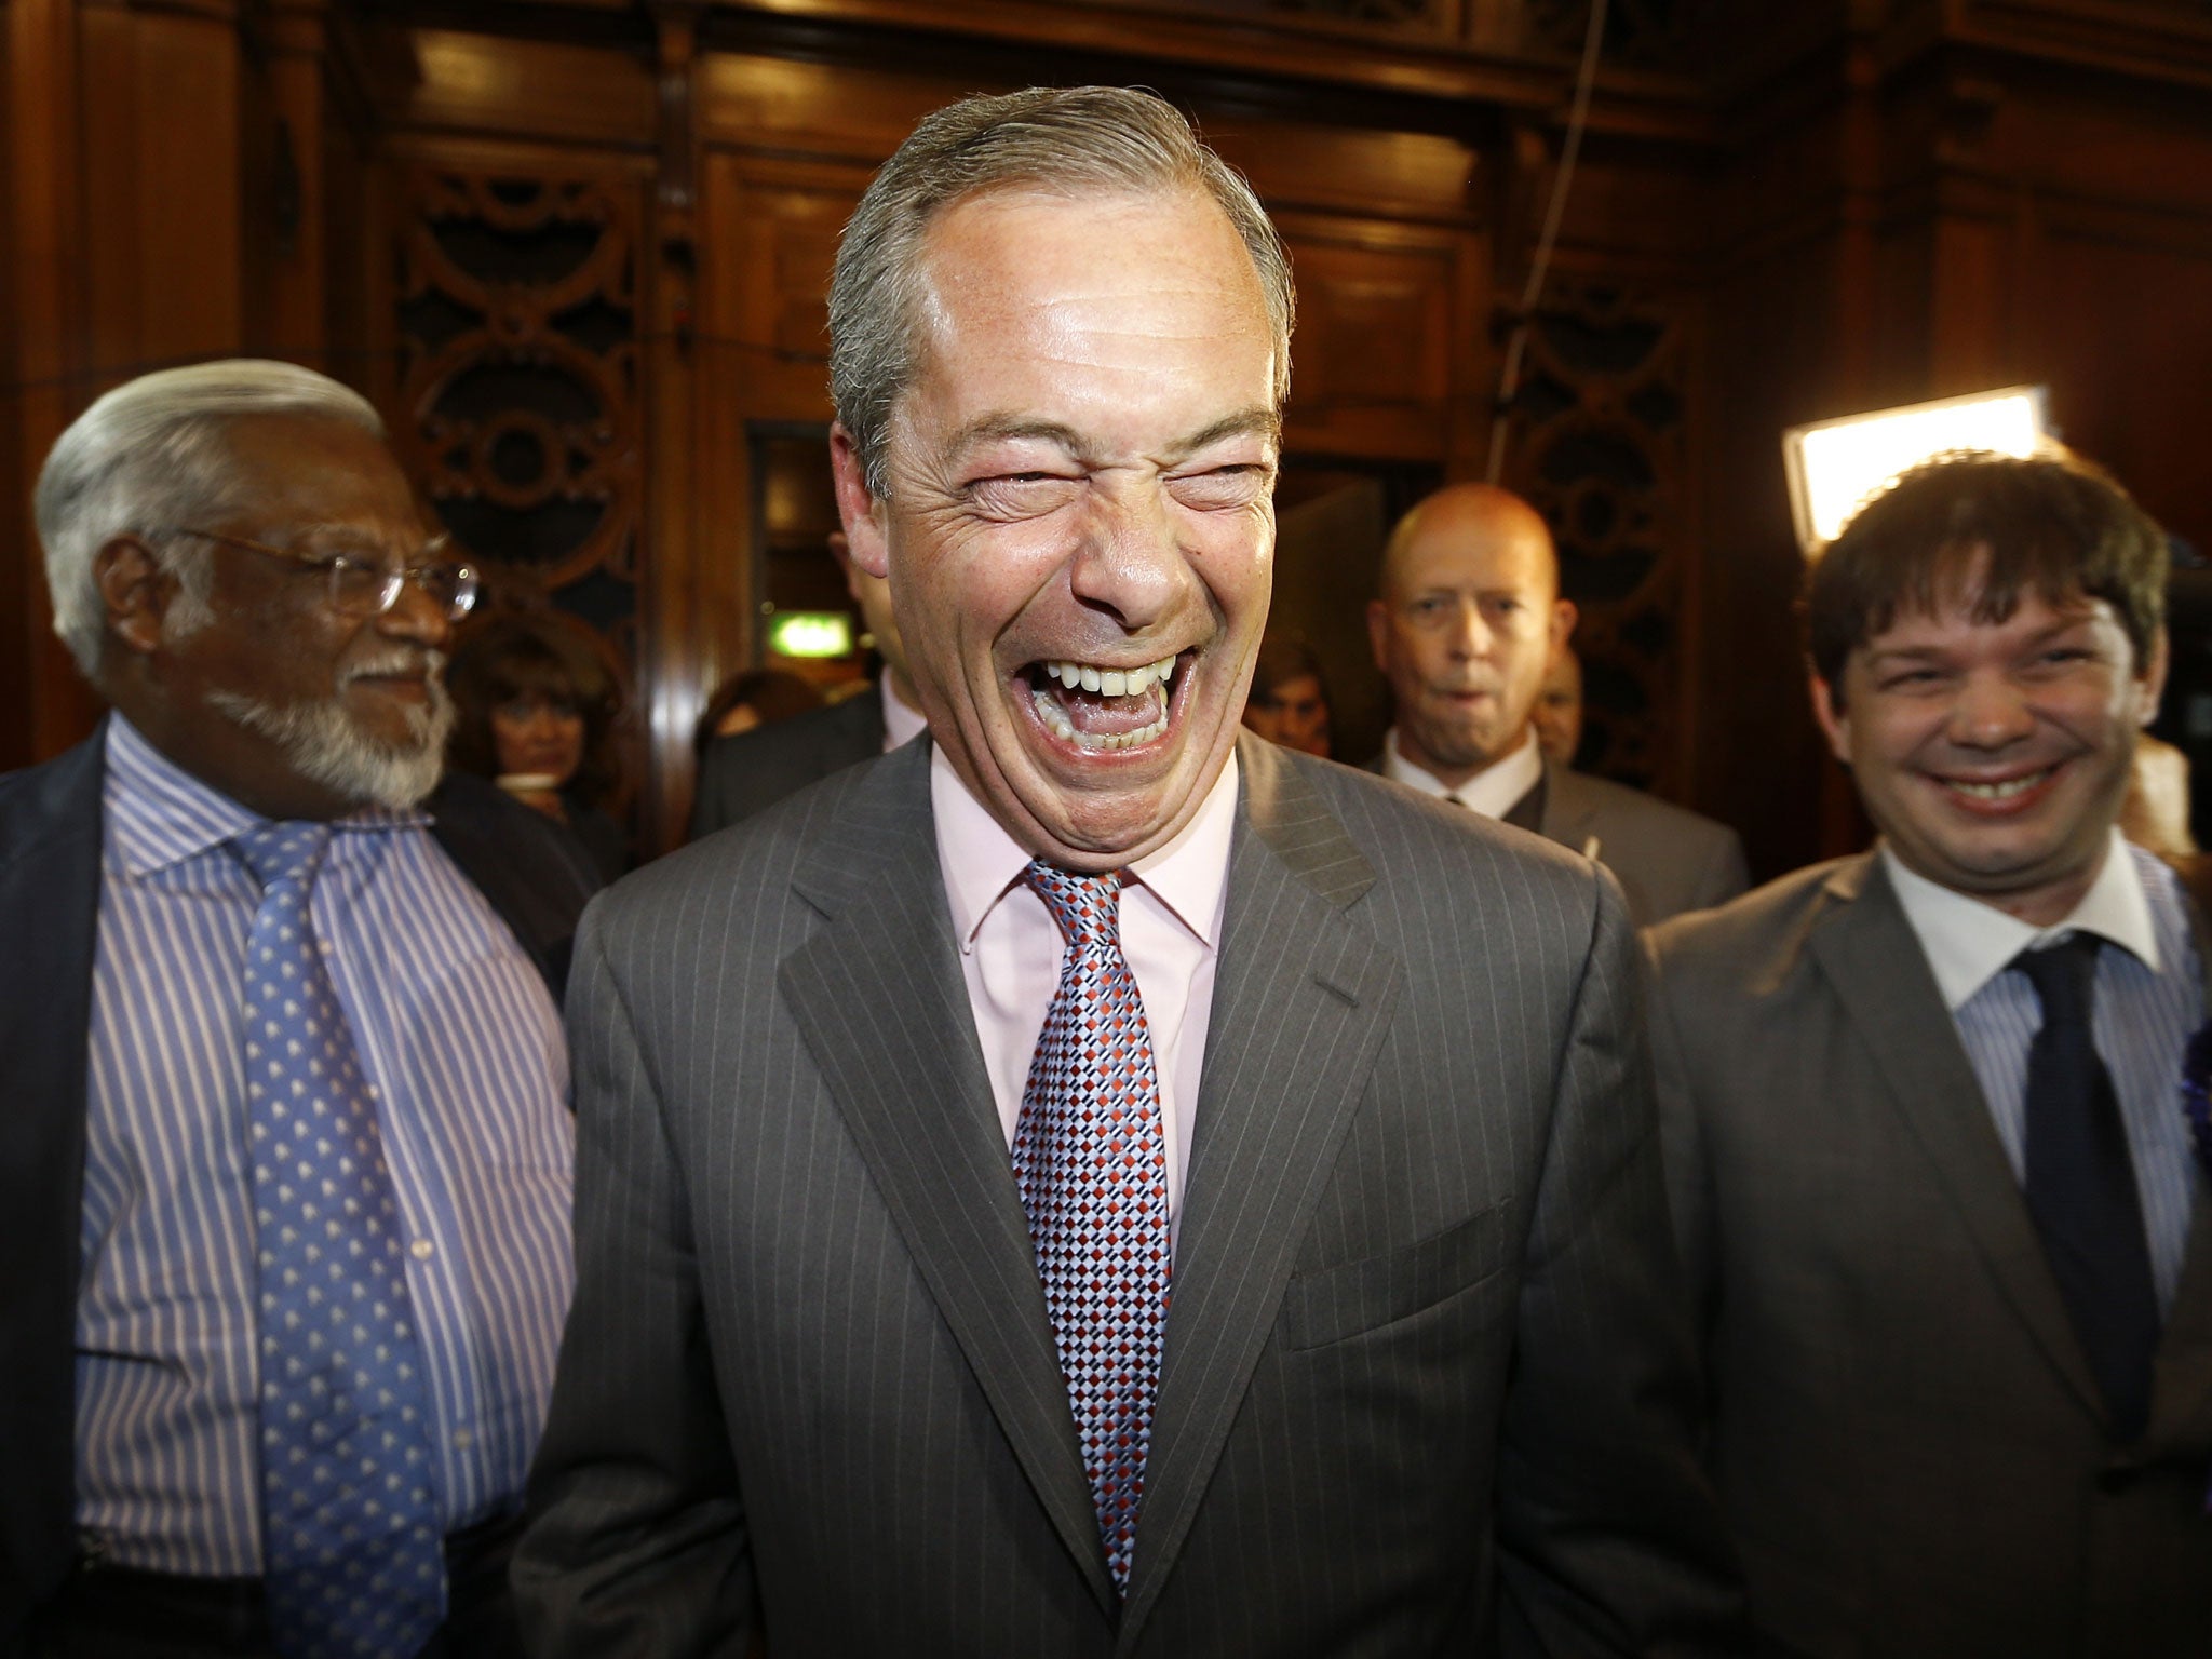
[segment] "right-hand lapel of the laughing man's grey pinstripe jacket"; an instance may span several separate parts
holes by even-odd
[[[1374,869],[1343,825],[1281,750],[1243,739],[1237,757],[1241,810],[1124,1652],[1221,1458],[1398,982],[1345,914]]]

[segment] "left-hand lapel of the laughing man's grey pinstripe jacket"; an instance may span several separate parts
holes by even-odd
[[[823,929],[779,982],[938,1312],[1108,1615],[1068,1389],[975,1042],[929,812],[929,743],[876,763],[801,865]]]

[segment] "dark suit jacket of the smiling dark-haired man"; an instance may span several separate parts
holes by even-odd
[[[2110,1447],[1880,860],[1798,872],[1650,945],[1712,1469],[1754,1621],[1805,1655],[2212,1652],[2203,1199],[2150,1431]]]

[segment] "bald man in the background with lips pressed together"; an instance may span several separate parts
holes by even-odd
[[[1398,723],[1369,772],[1533,830],[1604,863],[1639,927],[1747,885],[1734,830],[1544,757],[1533,712],[1575,606],[1528,502],[1491,484],[1429,495],[1383,551],[1367,606]]]

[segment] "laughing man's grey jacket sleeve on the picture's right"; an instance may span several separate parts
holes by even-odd
[[[1498,1462],[1504,1650],[1747,1650],[1699,1458],[1641,973],[1610,876],[1568,1020]]]

